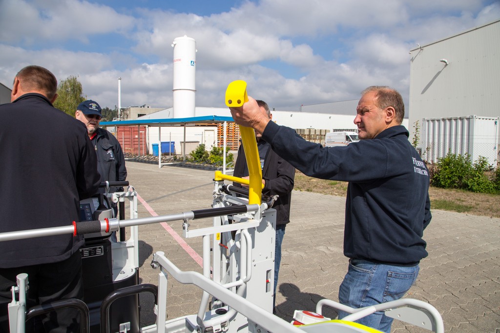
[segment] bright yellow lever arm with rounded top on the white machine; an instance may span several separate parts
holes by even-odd
[[[246,94],[246,82],[242,80],[232,81],[225,90],[225,105],[229,107],[242,106],[248,101]],[[245,151],[246,164],[248,165],[248,174],[250,179],[242,179],[223,175],[220,171],[215,172],[215,180],[227,179],[249,186],[248,204],[260,205],[262,196],[262,170],[260,169],[260,159],[258,157],[257,141],[255,132],[250,127],[239,126],[241,141]]]

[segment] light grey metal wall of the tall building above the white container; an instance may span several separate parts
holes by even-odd
[[[499,40],[497,20],[410,51],[410,138],[423,118],[500,115]]]

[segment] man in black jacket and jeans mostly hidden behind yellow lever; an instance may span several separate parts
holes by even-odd
[[[257,105],[261,113],[271,120],[272,114],[267,103],[262,100],[257,100]],[[262,169],[262,183],[264,184],[262,194],[266,196],[277,194],[279,196],[278,200],[272,206],[272,208],[276,210],[274,294],[272,302],[274,312],[276,286],[278,282],[279,265],[281,263],[281,244],[283,242],[286,224],[290,222],[291,191],[293,190],[293,181],[295,179],[295,168],[273,152],[269,144],[262,140],[262,135],[260,133],[255,132],[255,138],[257,140],[260,168]],[[246,164],[243,145],[240,145],[238,148],[233,176],[248,178],[248,166]],[[234,185],[241,186],[239,183],[235,183]]]

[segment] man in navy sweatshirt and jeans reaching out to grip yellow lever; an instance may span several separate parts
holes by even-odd
[[[230,108],[237,124],[261,133],[274,152],[304,174],[349,182],[344,229],[349,267],[338,299],[352,308],[405,295],[427,256],[422,235],[431,219],[428,171],[401,126],[401,95],[386,86],[370,86],[361,95],[354,118],[360,141],[345,147],[305,141],[264,117],[251,97]],[[338,318],[347,315],[340,311]],[[377,312],[357,322],[388,333],[392,319]]]

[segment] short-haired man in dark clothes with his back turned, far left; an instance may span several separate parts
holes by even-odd
[[[12,103],[0,105],[2,233],[71,225],[79,201],[98,189],[85,127],[52,106],[56,89],[50,71],[27,66],[14,78]],[[28,275],[27,307],[83,297],[82,245],[83,238],[71,234],[0,242],[0,331],[8,332],[10,287],[20,273]],[[34,330],[46,332],[75,332],[80,321],[74,309],[35,319]]]

